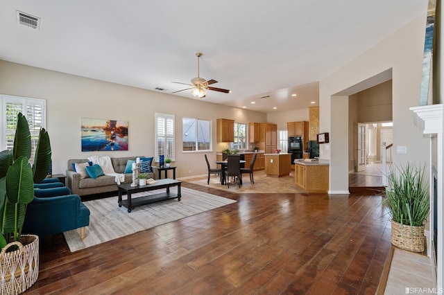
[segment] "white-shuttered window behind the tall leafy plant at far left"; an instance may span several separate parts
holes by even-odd
[[[1,146],[3,150],[12,150],[14,147],[15,129],[17,128],[17,114],[22,112],[28,120],[31,132],[31,163],[34,159],[35,148],[41,128],[46,124],[46,100],[36,98],[24,98],[19,96],[1,96],[3,114],[3,134]]]

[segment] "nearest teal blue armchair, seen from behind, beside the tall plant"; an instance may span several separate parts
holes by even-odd
[[[80,228],[80,238],[85,238],[89,225],[89,209],[78,195],[64,187],[35,189],[34,199],[28,204],[22,233],[44,237]]]

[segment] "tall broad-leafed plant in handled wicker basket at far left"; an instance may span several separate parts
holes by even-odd
[[[22,226],[26,206],[34,198],[34,183],[46,177],[51,163],[51,145],[44,128],[32,167],[30,157],[31,133],[28,121],[19,113],[13,149],[0,152],[0,272],[5,274],[0,278],[2,294],[24,292],[38,277],[38,237],[22,235]]]

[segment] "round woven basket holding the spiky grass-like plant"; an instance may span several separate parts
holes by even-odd
[[[409,226],[391,221],[391,243],[398,248],[424,251],[424,226]]]

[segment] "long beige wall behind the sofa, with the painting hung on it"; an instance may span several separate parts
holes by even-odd
[[[178,177],[205,175],[203,152],[182,153],[182,117],[212,120],[213,150],[216,160],[216,118],[238,123],[265,122],[266,114],[181,98],[76,75],[48,71],[0,60],[0,93],[46,99],[47,129],[53,149],[53,172],[65,173],[68,159],[85,159],[93,154],[126,157],[154,155],[154,114],[176,116],[176,163]],[[112,118],[128,121],[129,150],[81,152],[81,118]],[[215,166],[215,165],[214,165]],[[189,173],[191,170],[191,173]]]

